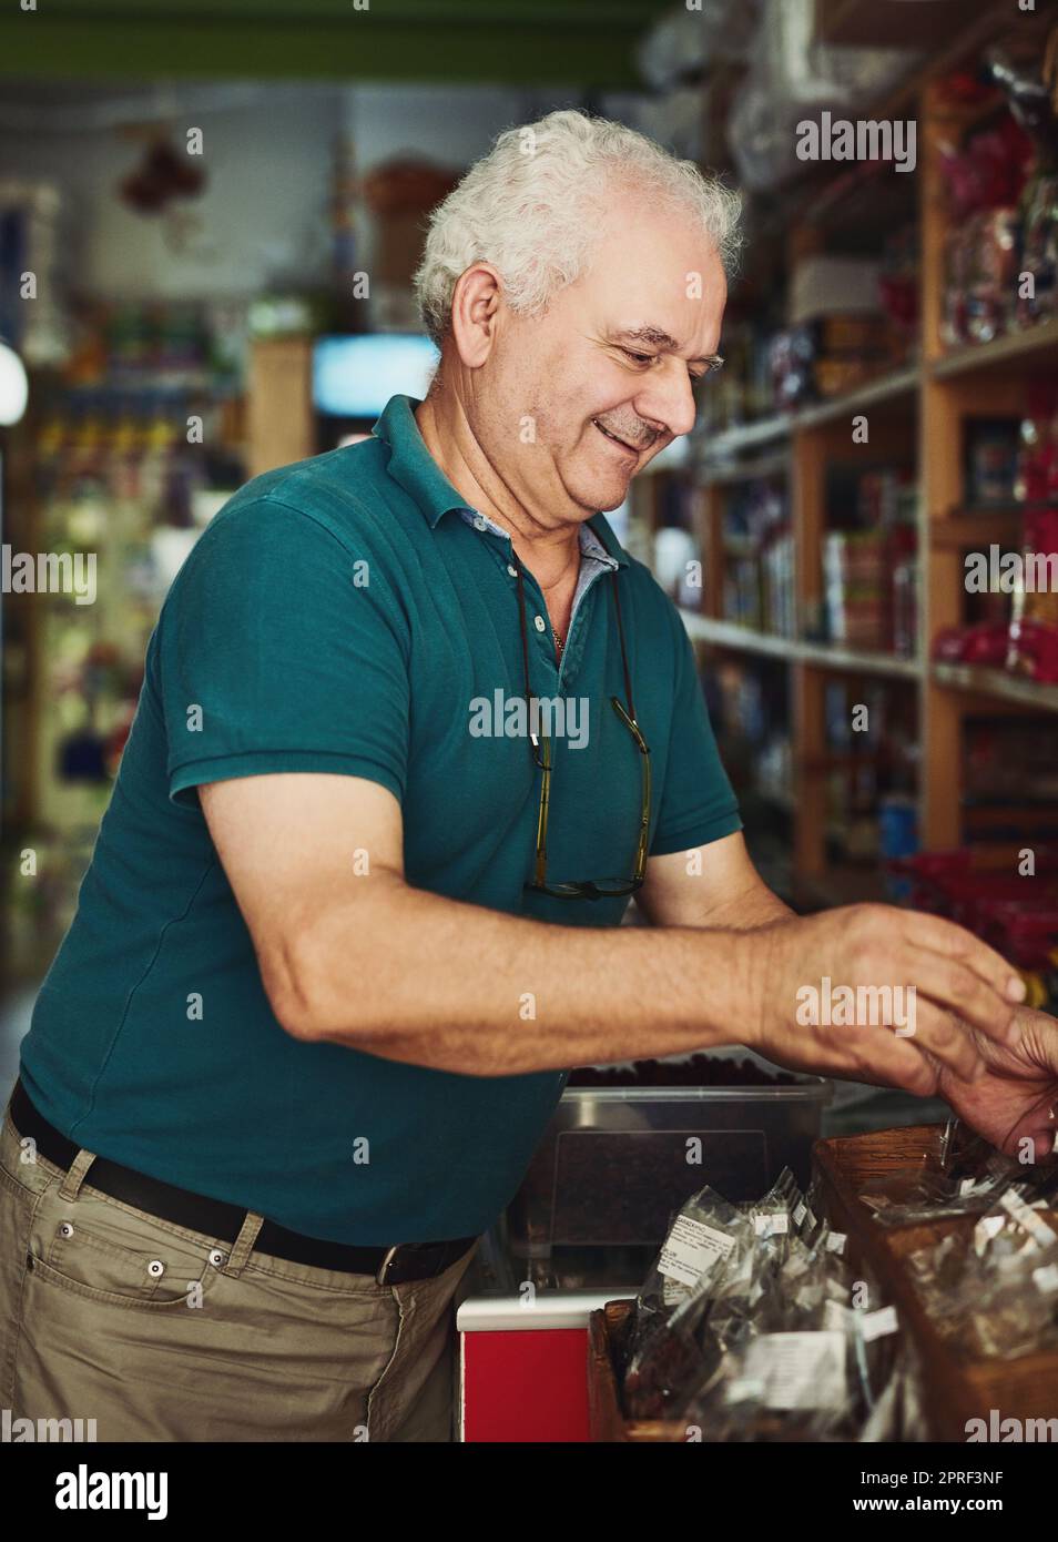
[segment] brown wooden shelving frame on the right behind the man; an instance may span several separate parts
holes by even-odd
[[[859,0],[836,0],[833,12],[837,25],[854,19],[858,26],[861,22],[870,26],[878,8],[859,5]],[[685,625],[702,648],[780,660],[790,671],[796,782],[787,803],[793,820],[793,868],[802,891],[817,891],[820,902],[845,902],[848,896],[864,897],[859,893],[862,888],[870,890],[862,868],[834,870],[828,865],[824,722],[828,678],[836,674],[885,678],[916,691],[919,831],[922,847],[933,850],[956,847],[964,839],[964,720],[981,712],[1018,715],[1058,711],[1058,686],[1038,685],[999,669],[930,660],[936,632],[964,620],[962,552],[979,543],[1016,543],[1021,530],[1021,512],[1016,509],[978,512],[965,507],[964,423],[973,416],[1021,415],[1026,378],[1058,375],[1058,319],[979,347],[948,352],[941,342],[948,217],[941,146],[972,120],[972,113],[964,109],[959,116],[945,105],[938,80],[996,31],[995,9],[975,6],[964,20],[964,31],[950,40],[948,48],[936,51],[933,68],[916,74],[893,97],[893,103],[899,100],[905,116],[915,116],[919,125],[915,194],[921,241],[921,356],[908,367],[844,396],[719,433],[697,446],[688,472],[696,484],[696,520],[706,577],[703,611],[685,611]],[[941,52],[942,57],[938,57]],[[841,180],[834,179],[836,183]],[[800,219],[788,233],[791,256],[825,248],[827,221],[841,219],[839,197],[817,182],[808,191]],[[853,463],[858,452],[851,449],[851,418],[859,413],[870,418],[870,447],[861,452],[865,464],[878,464],[891,453],[918,467],[919,632],[916,654],[908,658],[805,640],[822,591],[827,469],[836,460]],[[797,554],[797,638],[754,632],[723,620],[720,614],[725,501],[748,480],[779,476],[787,478]]]

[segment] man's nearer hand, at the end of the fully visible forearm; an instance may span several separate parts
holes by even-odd
[[[996,1044],[1018,1036],[1015,1004],[1024,985],[972,933],[939,916],[893,905],[848,905],[780,921],[745,938],[759,950],[751,1044],[790,1070],[810,1070],[935,1096],[944,1069],[959,1081],[984,1070],[970,1029]],[[915,987],[915,1013],[901,1030],[856,1012],[854,1025],[805,1022],[811,992],[847,985],[861,1001],[884,987]],[[808,990],[807,990],[808,987]],[[800,993],[800,995],[799,995]],[[905,996],[907,999],[907,996]],[[955,1016],[953,1016],[955,1015]],[[822,1013],[814,1013],[816,1018]],[[964,1019],[965,1027],[956,1019]]]

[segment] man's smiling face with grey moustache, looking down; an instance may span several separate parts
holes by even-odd
[[[694,424],[725,299],[720,259],[689,217],[628,191],[543,316],[503,307],[470,421],[526,509],[564,524],[623,503],[635,472]]]

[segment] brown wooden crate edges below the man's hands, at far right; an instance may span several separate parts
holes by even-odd
[[[965,1440],[969,1419],[1058,1417],[1058,1352],[1044,1351],[1018,1360],[961,1360],[927,1315],[907,1268],[908,1254],[952,1232],[972,1232],[976,1217],[955,1217],[916,1226],[882,1226],[862,1203],[865,1183],[935,1156],[939,1124],[881,1130],[842,1140],[817,1141],[813,1161],[819,1173],[824,1214],[848,1235],[847,1255],[862,1261],[893,1303],[911,1334],[922,1362],[925,1411],[935,1440]],[[1050,1217],[1052,1223],[1058,1217]],[[1058,1226],[1056,1226],[1058,1229]]]

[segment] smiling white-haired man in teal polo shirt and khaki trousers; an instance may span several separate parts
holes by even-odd
[[[432,222],[427,399],[185,563],[5,1121],[19,1416],[449,1439],[452,1297],[572,1066],[736,1041],[1050,1149],[1053,1024],[996,953],[757,877],[600,513],[691,427],[736,245],[628,128],[501,134]],[[915,985],[913,1032],[800,1022],[824,976]]]

